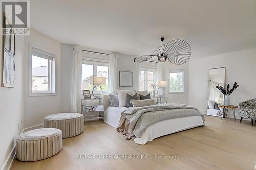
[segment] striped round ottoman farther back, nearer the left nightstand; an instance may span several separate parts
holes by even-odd
[[[79,113],[57,113],[45,117],[45,128],[57,128],[62,138],[73,137],[83,132],[83,115]]]

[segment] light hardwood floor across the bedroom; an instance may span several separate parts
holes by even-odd
[[[77,159],[78,154],[180,155],[180,159]],[[253,169],[256,127],[206,116],[205,126],[163,136],[145,145],[124,140],[115,128],[90,122],[84,132],[63,139],[57,155],[36,162],[14,160],[11,169]]]

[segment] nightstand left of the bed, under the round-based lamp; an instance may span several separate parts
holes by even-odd
[[[100,119],[104,121],[104,99],[82,99],[81,112],[84,117],[84,122]]]

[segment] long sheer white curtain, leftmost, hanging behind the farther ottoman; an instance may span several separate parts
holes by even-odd
[[[71,111],[81,112],[81,48],[73,48],[73,65],[72,65],[72,91],[71,91]]]

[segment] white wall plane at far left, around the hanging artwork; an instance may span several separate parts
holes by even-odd
[[[0,40],[0,82],[2,83],[3,66],[3,36]],[[20,119],[24,118],[24,36],[16,36],[15,55],[15,87],[0,87],[0,168],[5,164],[12,149],[15,146],[16,136],[22,131],[24,125]],[[19,130],[18,130],[19,123]],[[14,155],[10,155],[14,156]],[[9,162],[10,163],[10,162]]]

